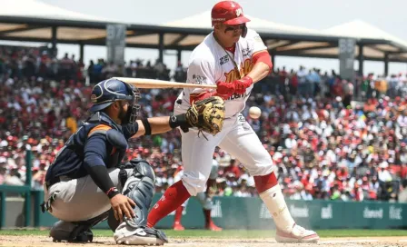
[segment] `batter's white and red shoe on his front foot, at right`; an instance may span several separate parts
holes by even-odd
[[[279,229],[275,232],[276,242],[318,242],[320,237],[316,232],[306,230],[294,224],[292,232],[283,232]]]

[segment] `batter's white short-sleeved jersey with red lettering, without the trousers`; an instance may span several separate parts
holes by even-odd
[[[262,38],[251,29],[248,30],[244,38],[241,37],[236,43],[234,54],[223,49],[214,39],[213,33],[211,33],[191,54],[186,82],[190,84],[232,83],[249,74],[253,67],[253,54],[263,50],[267,50],[267,47],[263,44]],[[233,60],[240,74],[237,74]],[[243,111],[252,88],[253,85],[247,88],[245,94],[233,94],[226,100],[226,118]],[[190,95],[199,94],[203,91],[204,89],[200,88],[185,88],[178,99],[183,99],[186,110],[190,106]]]

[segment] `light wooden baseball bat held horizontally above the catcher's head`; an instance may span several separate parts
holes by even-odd
[[[137,88],[216,88],[214,84],[184,84],[177,82],[168,82],[155,79],[132,78],[132,77],[114,77],[127,84],[133,84]]]

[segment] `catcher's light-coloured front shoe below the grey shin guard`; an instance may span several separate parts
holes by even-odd
[[[126,245],[163,245],[168,242],[164,232],[154,228],[141,227],[134,231],[122,228],[114,232],[114,241]]]

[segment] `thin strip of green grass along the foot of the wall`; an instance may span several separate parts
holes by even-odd
[[[48,230],[2,230],[0,235],[48,235]],[[164,230],[169,238],[233,238],[233,239],[255,239],[273,238],[273,231],[245,231],[245,230],[224,230],[223,232],[211,232],[204,230],[185,230],[176,232],[174,230]],[[372,237],[372,236],[407,236],[405,230],[317,230],[322,238],[335,237]],[[96,236],[110,237],[113,232],[110,230],[94,230]]]

